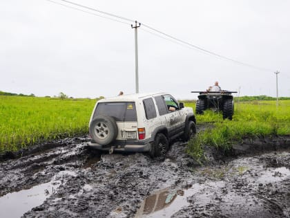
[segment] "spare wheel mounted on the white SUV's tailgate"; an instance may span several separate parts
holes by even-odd
[[[97,116],[90,124],[90,136],[100,145],[108,145],[117,137],[117,124],[110,116]]]

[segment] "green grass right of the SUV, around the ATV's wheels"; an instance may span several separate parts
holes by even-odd
[[[193,107],[194,103],[187,103]],[[290,135],[290,100],[281,100],[276,109],[276,101],[235,102],[233,120],[223,120],[222,112],[205,111],[196,116],[197,123],[211,124],[189,141],[188,153],[200,160],[204,145],[211,145],[224,151],[243,138]]]

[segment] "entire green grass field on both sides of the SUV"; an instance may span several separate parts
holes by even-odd
[[[15,151],[45,140],[88,134],[96,100],[0,96],[0,152]],[[186,103],[193,107],[195,103]],[[235,102],[233,120],[205,111],[197,123],[210,124],[189,142],[188,152],[202,158],[203,146],[229,149],[244,137],[290,135],[290,100]]]

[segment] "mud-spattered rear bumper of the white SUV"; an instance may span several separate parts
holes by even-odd
[[[88,146],[108,151],[113,148],[116,152],[149,152],[151,149],[151,143],[146,143],[144,145],[99,145],[97,143],[88,143]]]

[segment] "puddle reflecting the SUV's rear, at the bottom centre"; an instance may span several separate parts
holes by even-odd
[[[194,184],[188,190],[174,190],[165,188],[148,196],[141,204],[135,218],[139,217],[171,217],[175,212],[189,206],[187,197],[199,192],[204,184]]]

